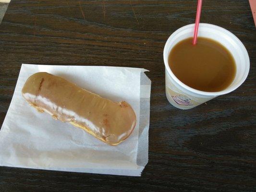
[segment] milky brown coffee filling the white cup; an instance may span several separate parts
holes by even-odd
[[[181,82],[200,91],[222,91],[232,83],[236,73],[229,50],[204,37],[197,37],[195,46],[192,37],[177,43],[171,49],[168,62]]]

